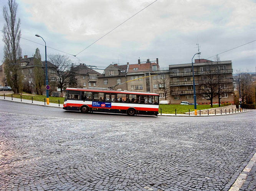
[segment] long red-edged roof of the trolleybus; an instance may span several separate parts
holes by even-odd
[[[116,94],[159,95],[157,93],[117,91],[117,90],[106,90],[106,89],[71,88],[71,87],[66,88],[66,90],[84,91],[84,92],[106,92],[106,93],[116,93]]]

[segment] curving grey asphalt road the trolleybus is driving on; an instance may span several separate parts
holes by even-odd
[[[181,116],[127,116],[122,114],[109,113],[81,113],[63,110],[62,107],[46,107],[33,104],[24,104],[19,102],[9,102],[0,100],[0,112],[36,115],[44,117],[56,118],[72,118],[72,119],[91,119],[91,120],[111,120],[111,121],[237,121],[237,120],[252,120],[256,119],[256,110],[247,113],[235,113],[232,115],[222,116],[201,116],[201,117],[181,117]]]

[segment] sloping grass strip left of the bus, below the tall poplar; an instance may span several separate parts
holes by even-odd
[[[31,100],[31,97],[33,97],[33,101],[40,101],[40,102],[46,102],[46,95],[36,95],[36,94],[28,94],[23,92],[23,94],[25,95],[21,95],[22,99],[28,99]],[[1,95],[3,96],[3,95]],[[15,98],[19,98],[20,99],[20,94],[9,94],[9,95],[5,95],[5,97],[15,97]],[[50,103],[55,103],[55,104],[64,104],[64,97],[51,97],[49,96],[49,102]]]

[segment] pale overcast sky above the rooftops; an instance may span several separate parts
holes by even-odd
[[[21,37],[72,55],[146,7],[154,0],[17,0]],[[7,0],[0,0],[1,11]],[[3,29],[3,15],[0,28]],[[1,32],[1,39],[3,35]],[[44,46],[21,39],[22,55],[32,57]],[[160,67],[191,63],[200,46],[201,58],[256,40],[255,0],[158,0],[79,53],[78,64],[104,68],[114,63],[137,63],[159,58]],[[3,41],[0,59],[3,60]],[[47,54],[60,53],[48,48]],[[255,72],[256,41],[219,55],[232,60],[233,69]],[[209,58],[214,60],[214,57]]]

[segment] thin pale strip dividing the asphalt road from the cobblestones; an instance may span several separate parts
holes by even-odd
[[[25,116],[31,116],[31,117],[45,117],[45,118],[55,118],[55,119],[71,119],[71,120],[92,120],[92,121],[121,121],[121,120],[94,120],[94,119],[80,119],[80,118],[66,118],[66,117],[50,117],[50,116],[41,116],[41,115],[28,115],[28,114],[19,114],[19,113],[8,113],[8,112],[0,112],[5,114],[13,114],[13,115],[25,115]],[[190,122],[197,122],[197,123],[205,123],[205,122],[229,122],[229,121],[249,121],[249,120],[255,120],[255,119],[243,119],[243,120],[220,120],[220,121],[190,121]],[[132,121],[129,121],[132,122]],[[136,121],[136,122],[152,122],[152,121]],[[155,121],[155,122],[167,122],[167,121]],[[168,122],[174,122],[177,121],[168,121]],[[187,123],[187,121],[180,121],[181,123]]]

